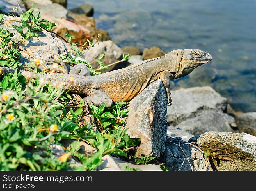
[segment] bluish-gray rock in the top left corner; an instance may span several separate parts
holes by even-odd
[[[19,6],[22,11],[20,10],[17,2],[19,3]],[[21,0],[17,0],[17,2],[16,2],[16,0],[1,0],[0,1],[0,8],[1,8],[0,12],[3,14],[6,14],[6,15],[13,13],[13,15],[16,15],[16,16],[19,16],[20,14],[22,14],[22,12],[23,13],[26,12],[24,3]],[[16,8],[17,8],[17,10],[13,10]]]

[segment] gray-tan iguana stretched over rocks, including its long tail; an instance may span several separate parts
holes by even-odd
[[[113,70],[95,76],[90,75],[85,64],[77,64],[68,74],[56,73],[51,75],[50,81],[63,81],[67,83],[71,76],[74,81],[66,87],[66,91],[82,94],[86,97],[86,104],[101,106],[106,103],[110,107],[113,101],[130,101],[141,93],[150,83],[161,79],[166,88],[168,106],[170,99],[170,80],[188,75],[196,67],[211,61],[211,54],[199,49],[178,49],[167,54]],[[14,73],[16,69],[0,67],[0,74]],[[49,74],[33,73],[19,70],[27,80],[36,76],[45,77]]]

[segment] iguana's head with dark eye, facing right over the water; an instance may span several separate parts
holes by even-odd
[[[188,75],[196,67],[211,61],[211,54],[199,49],[183,49],[177,55],[177,73],[174,78]]]

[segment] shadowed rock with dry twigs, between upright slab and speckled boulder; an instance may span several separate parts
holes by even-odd
[[[165,151],[159,162],[164,163],[169,171],[209,170],[200,150],[184,141],[166,139]],[[202,167],[202,169],[201,169]]]

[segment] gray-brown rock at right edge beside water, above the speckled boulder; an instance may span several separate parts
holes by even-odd
[[[239,132],[256,136],[256,112],[236,114],[235,120]]]

